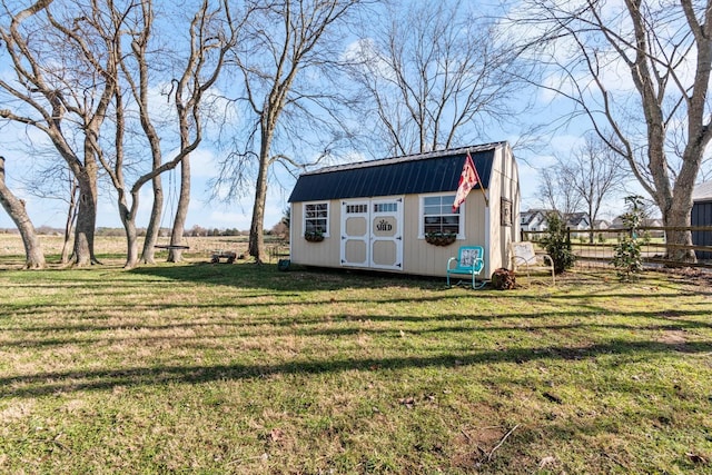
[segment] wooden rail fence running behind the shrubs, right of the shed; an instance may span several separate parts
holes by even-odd
[[[681,246],[668,244],[665,234],[668,231],[692,231],[693,243],[704,243],[705,245]],[[546,231],[522,231],[522,240],[540,240]],[[615,245],[621,237],[631,235],[627,228],[615,229],[568,229],[571,247],[576,255],[578,265],[604,265],[611,264]],[[643,263],[647,266],[666,267],[701,267],[712,268],[712,226],[691,226],[685,228],[672,227],[640,227],[637,238],[641,241],[641,254]],[[666,258],[670,249],[692,249],[698,256],[696,263],[680,264]]]

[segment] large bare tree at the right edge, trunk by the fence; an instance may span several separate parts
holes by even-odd
[[[712,138],[710,11],[712,0],[532,0],[513,13],[520,30],[531,27],[525,48],[551,72],[540,86],[572,100],[627,160],[669,227],[690,226]],[[668,231],[666,240],[670,258],[694,260],[690,231]]]

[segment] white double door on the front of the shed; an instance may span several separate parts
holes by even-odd
[[[403,197],[342,200],[342,266],[403,270]]]

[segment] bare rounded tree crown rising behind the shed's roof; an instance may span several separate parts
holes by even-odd
[[[515,50],[493,18],[468,2],[393,2],[352,53],[364,123],[386,154],[451,148],[511,121],[522,82]],[[373,120],[373,119],[376,120]],[[501,129],[498,127],[497,129]]]

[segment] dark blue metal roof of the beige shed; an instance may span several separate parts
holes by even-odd
[[[494,151],[503,145],[487,144],[322,168],[299,176],[289,202],[455,191],[467,151],[484,187],[488,188]]]

